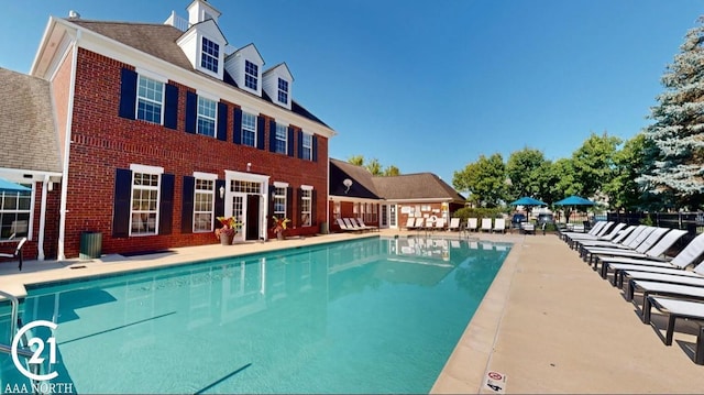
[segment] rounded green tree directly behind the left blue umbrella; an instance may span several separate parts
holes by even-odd
[[[513,152],[506,163],[506,174],[510,179],[507,198],[515,200],[522,196],[530,196],[542,199],[541,172],[544,169],[546,162],[543,153],[539,150],[525,147]]]

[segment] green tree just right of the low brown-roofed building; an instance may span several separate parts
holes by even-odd
[[[468,199],[480,207],[496,207],[506,199],[506,165],[501,154],[480,158],[468,164],[463,171],[454,172],[452,185],[457,190],[468,191]]]

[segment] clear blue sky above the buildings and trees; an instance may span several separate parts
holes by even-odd
[[[50,15],[163,22],[190,0],[0,1],[0,67],[29,73]],[[569,157],[632,138],[704,14],[695,0],[211,0],[230,44],[286,62],[330,156],[452,174],[481,154]]]

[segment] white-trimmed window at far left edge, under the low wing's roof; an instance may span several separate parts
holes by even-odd
[[[0,240],[29,237],[32,213],[32,184],[20,184],[29,190],[0,190]]]

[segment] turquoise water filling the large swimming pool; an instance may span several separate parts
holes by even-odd
[[[509,248],[370,238],[31,288],[21,317],[77,393],[428,393]]]

